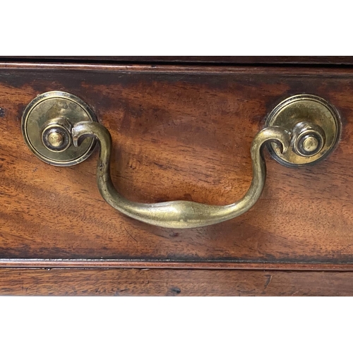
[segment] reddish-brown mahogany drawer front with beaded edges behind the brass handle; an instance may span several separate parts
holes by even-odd
[[[145,225],[102,200],[97,150],[73,167],[38,160],[21,134],[27,104],[70,92],[112,134],[112,179],[140,202],[237,201],[251,183],[250,146],[268,113],[300,93],[342,119],[334,152],[289,169],[265,153],[261,199],[196,229]],[[353,268],[353,70],[110,64],[1,64],[2,266]]]

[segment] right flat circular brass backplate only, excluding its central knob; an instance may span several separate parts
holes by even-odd
[[[287,167],[304,166],[323,160],[340,139],[340,116],[332,105],[316,95],[294,95],[282,101],[270,113],[265,126],[281,126],[292,132],[294,126],[302,121],[321,128],[325,140],[320,152],[311,156],[299,155],[292,146],[282,154],[280,148],[271,143],[268,146],[271,155]]]

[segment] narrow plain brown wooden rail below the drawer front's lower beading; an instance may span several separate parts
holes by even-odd
[[[1,295],[352,296],[353,273],[260,270],[0,269]]]

